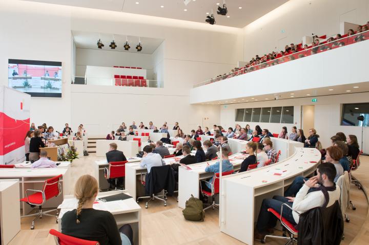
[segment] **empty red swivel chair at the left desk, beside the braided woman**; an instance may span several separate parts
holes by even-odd
[[[28,203],[29,205],[31,205],[31,207],[32,206],[38,206],[38,212],[37,213],[29,214],[29,215],[25,215],[25,216],[21,217],[21,218],[23,218],[23,217],[36,216],[32,221],[31,230],[34,229],[34,222],[38,217],[40,217],[40,218],[42,218],[43,216],[55,217],[56,222],[57,222],[57,215],[58,215],[57,210],[53,209],[53,210],[49,210],[49,211],[43,211],[42,210],[42,205],[46,201],[48,201],[48,199],[60,195],[60,193],[61,193],[61,185],[60,185],[61,176],[63,176],[63,175],[59,174],[55,177],[52,177],[51,179],[46,180],[45,183],[44,183],[44,187],[43,187],[42,191],[27,189],[26,190],[26,197],[20,199],[20,202]],[[35,193],[33,193],[31,195],[28,195],[29,191],[33,191]],[[54,212],[54,211],[56,211],[56,215],[49,214],[50,212]]]

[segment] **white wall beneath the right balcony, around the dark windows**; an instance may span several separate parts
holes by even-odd
[[[286,126],[291,131],[292,126],[300,128],[301,105],[315,105],[315,129],[320,136],[323,147],[330,145],[330,138],[336,135],[336,132],[344,132],[345,135],[356,135],[361,147],[361,127],[341,126],[341,105],[344,103],[364,103],[369,102],[369,93],[357,93],[347,95],[332,95],[317,97],[316,103],[311,102],[311,98],[284,99],[276,101],[262,101],[252,103],[239,103],[220,106],[220,119],[223,127],[234,127],[235,123],[245,127],[250,124],[251,128],[260,125],[261,128],[268,128],[271,132],[279,133],[282,126]],[[294,124],[280,123],[255,123],[255,122],[236,122],[236,108],[254,108],[254,107],[273,107],[273,106],[294,106]],[[225,108],[227,107],[227,108]],[[305,133],[307,134],[307,133]],[[364,127],[363,150],[369,152],[369,127]]]

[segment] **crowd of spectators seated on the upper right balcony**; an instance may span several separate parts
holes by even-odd
[[[367,21],[367,23],[365,25],[362,25],[362,26],[359,25],[357,27],[356,31],[354,31],[353,29],[348,30],[347,35],[345,35],[345,36],[352,36],[352,35],[355,35],[355,34],[358,34],[358,33],[366,32],[367,30],[369,30],[369,21]],[[365,36],[366,35],[357,35],[357,37],[354,38],[353,42],[363,41],[364,39],[367,38],[367,36],[366,37]],[[292,55],[294,53],[299,53],[300,52],[298,55],[290,56],[286,60],[283,60],[282,62],[285,62],[285,61],[288,61],[288,60],[293,60],[293,59],[296,59],[296,58],[302,58],[304,56],[308,56],[308,55],[316,54],[316,53],[319,53],[319,52],[322,52],[322,51],[330,50],[330,49],[333,49],[333,48],[338,48],[338,47],[345,46],[345,42],[343,40],[340,40],[341,38],[342,38],[342,35],[337,34],[335,37],[330,37],[324,42],[320,42],[319,39],[316,39],[316,40],[314,40],[314,42],[311,43],[310,46],[308,46],[308,44],[304,44],[302,46],[302,43],[299,43],[297,45],[295,45],[294,43],[291,43],[290,46],[286,45],[284,47],[284,51],[281,50],[279,53],[272,51],[269,54],[264,54],[262,57],[259,57],[259,55],[255,55],[255,57],[253,57],[242,68],[235,67],[229,73],[224,73],[223,75],[218,75],[217,77],[212,78],[210,80],[210,82],[217,82],[217,81],[221,81],[221,80],[224,80],[224,79],[227,79],[227,78],[231,78],[231,77],[235,77],[235,76],[242,75],[242,74],[245,74],[245,73],[253,72],[254,70],[259,69],[257,67],[257,65],[259,65],[259,64],[260,64],[260,68],[266,68],[266,67],[271,66],[271,65],[276,65],[276,64],[280,63],[280,61],[278,60],[279,58],[281,58],[283,56],[289,56],[289,55]],[[311,49],[308,54],[305,54],[305,53],[301,52],[301,51],[308,50],[308,49]]]

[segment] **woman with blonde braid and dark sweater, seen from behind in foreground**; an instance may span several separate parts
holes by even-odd
[[[109,211],[93,208],[97,193],[98,184],[94,177],[88,174],[79,177],[74,188],[78,207],[66,212],[61,218],[61,233],[97,241],[101,245],[132,245],[133,231],[130,225],[124,225],[118,230]]]

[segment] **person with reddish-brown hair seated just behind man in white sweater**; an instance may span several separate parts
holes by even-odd
[[[343,168],[339,163],[339,159],[342,155],[342,150],[337,146],[330,146],[326,149],[325,162],[332,163],[336,168],[336,176],[334,176],[333,180],[335,183],[338,180],[338,177],[343,174]],[[309,179],[302,176],[296,177],[291,186],[284,192],[284,196],[295,196],[307,180]]]

